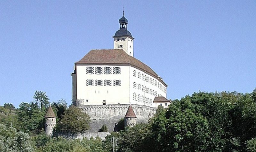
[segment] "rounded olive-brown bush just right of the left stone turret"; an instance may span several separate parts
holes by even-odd
[[[83,133],[89,129],[90,117],[78,107],[69,107],[56,125],[57,132]]]

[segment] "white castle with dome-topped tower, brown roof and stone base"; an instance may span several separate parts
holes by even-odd
[[[92,119],[124,117],[132,105],[139,121],[141,115],[153,116],[159,105],[159,100],[154,101],[156,97],[162,97],[165,105],[170,104],[166,99],[167,84],[133,57],[134,38],[127,30],[124,14],[119,23],[120,29],[113,36],[114,49],[91,50],[75,63],[73,104],[82,107]]]

